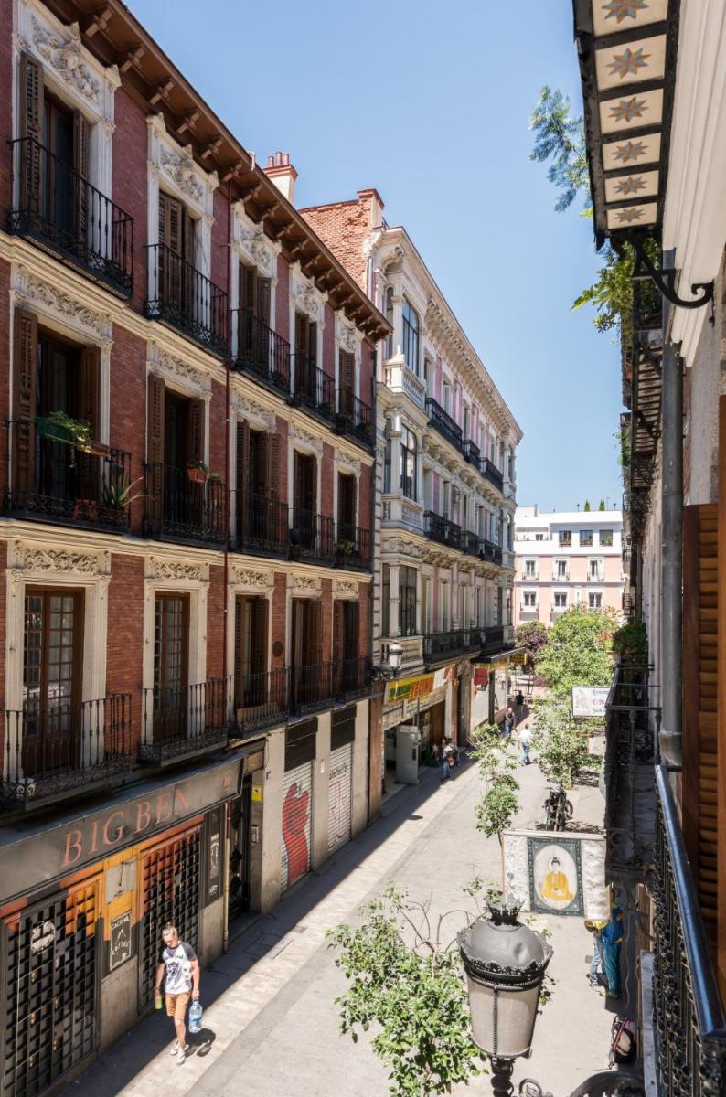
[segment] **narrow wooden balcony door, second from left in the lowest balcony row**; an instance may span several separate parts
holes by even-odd
[[[182,738],[189,716],[189,598],[157,593],[154,613],[154,742]]]

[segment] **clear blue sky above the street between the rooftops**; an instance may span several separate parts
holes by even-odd
[[[542,84],[579,111],[569,0],[129,7],[262,163],[291,154],[297,205],[377,188],[524,430],[519,501],[620,501],[617,348],[570,312],[590,223],[529,160]]]

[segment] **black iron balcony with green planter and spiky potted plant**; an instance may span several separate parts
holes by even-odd
[[[132,484],[129,453],[100,442],[79,450],[60,440],[59,428],[47,419],[10,422],[8,438],[12,484],[5,491],[7,514],[84,529],[128,529],[131,502],[140,494]]]

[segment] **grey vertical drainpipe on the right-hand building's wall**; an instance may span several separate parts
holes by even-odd
[[[673,265],[672,252],[663,265]],[[663,335],[668,332],[670,307],[663,299]],[[662,727],[659,735],[662,760],[682,766],[682,527],[683,527],[683,360],[666,339],[662,358],[662,559],[661,559],[661,668]]]

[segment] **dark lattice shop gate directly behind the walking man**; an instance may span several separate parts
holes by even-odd
[[[141,1008],[154,997],[161,930],[171,923],[182,941],[198,952],[201,827],[178,835],[144,855],[143,948],[139,966]]]

